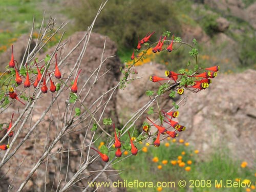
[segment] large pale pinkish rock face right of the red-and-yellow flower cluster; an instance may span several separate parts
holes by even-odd
[[[206,90],[186,92],[187,102],[179,109],[179,122],[187,129],[180,138],[196,146],[204,156],[222,148],[252,165],[256,159],[256,90],[251,89],[251,84],[255,80],[253,70],[220,74]]]

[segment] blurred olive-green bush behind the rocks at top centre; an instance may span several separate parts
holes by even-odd
[[[121,50],[131,50],[137,46],[138,36],[143,38],[147,32],[156,31],[158,36],[162,31],[172,29],[172,32],[178,35],[181,31],[180,23],[173,2],[109,1],[96,21],[94,31],[109,36]],[[87,30],[100,3],[94,0],[82,1],[81,5],[72,11],[77,30]],[[151,40],[157,40],[157,36]]]

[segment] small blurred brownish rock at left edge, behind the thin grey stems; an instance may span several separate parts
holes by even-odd
[[[16,42],[13,43],[13,54],[14,59],[18,62],[18,65],[21,65],[23,56],[25,54],[27,45],[28,45],[29,35],[23,34],[21,35]],[[30,44],[30,51],[34,49],[35,47],[35,40],[32,39]],[[11,59],[12,49],[11,46],[6,50],[6,52],[2,53],[0,55],[0,72],[5,71],[5,67],[9,65],[9,61]],[[26,58],[26,57],[25,57]]]

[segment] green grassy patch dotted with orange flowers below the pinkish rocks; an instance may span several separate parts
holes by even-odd
[[[177,143],[175,141],[168,140],[161,143],[159,147],[148,146],[146,143],[137,144],[137,147],[141,150],[138,153],[140,158],[133,156],[123,161],[117,159],[116,162],[118,163],[114,164],[114,168],[122,170],[120,177],[127,182],[138,180],[139,182],[153,182],[156,185],[159,181],[163,184],[173,181],[175,187],[173,184],[172,191],[187,191],[189,188],[195,192],[246,191],[246,187],[219,188],[218,184],[221,180],[223,186],[226,180],[232,182],[240,180],[240,182],[243,182],[245,179],[249,179],[252,185],[254,184],[253,170],[247,167],[242,168],[240,166],[241,162],[231,159],[227,151],[215,150],[207,159],[202,160],[201,158],[205,154],[196,154],[197,150],[187,146],[188,143]],[[131,152],[128,152],[127,155],[124,154],[123,157],[130,155]],[[179,159],[181,164],[178,162]],[[190,167],[190,169],[186,167]],[[177,186],[181,179],[187,182],[185,188]],[[205,187],[201,187],[203,184],[205,184]],[[127,191],[143,191],[144,189],[133,187],[127,188]],[[152,191],[158,191],[158,188],[152,188]],[[162,187],[162,191],[170,191],[170,188]]]

